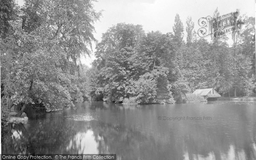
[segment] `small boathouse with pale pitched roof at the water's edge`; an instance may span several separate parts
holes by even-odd
[[[221,97],[221,95],[214,88],[198,89],[192,94],[202,96],[206,100],[216,100],[218,97]]]

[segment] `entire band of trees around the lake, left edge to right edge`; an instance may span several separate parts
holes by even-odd
[[[91,54],[93,24],[101,15],[93,2],[25,0],[20,7],[1,0],[2,106],[52,111],[83,98],[174,103],[198,88],[214,87],[226,96],[256,92],[254,18],[240,17],[245,24],[232,34],[233,47],[227,37],[202,45],[209,42],[198,38],[191,17],[184,29],[176,15],[173,32],[166,34],[118,23],[102,35],[88,69],[80,58]],[[179,45],[185,42],[200,45]]]

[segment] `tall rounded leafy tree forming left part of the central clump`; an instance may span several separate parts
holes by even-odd
[[[127,96],[125,90],[129,79],[139,78],[145,70],[139,62],[138,47],[145,36],[142,26],[125,23],[108,29],[97,45],[96,61],[98,67],[98,87],[96,93],[102,93],[107,101],[122,101]],[[99,90],[100,89],[100,90]]]

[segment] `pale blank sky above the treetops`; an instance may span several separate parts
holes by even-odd
[[[17,1],[22,5],[23,0]],[[95,38],[101,41],[102,33],[117,23],[132,23],[143,26],[145,32],[160,31],[172,32],[175,15],[179,14],[186,30],[186,18],[192,17],[195,23],[195,31],[200,26],[198,19],[212,16],[218,7],[220,15],[235,12],[240,9],[240,15],[255,17],[256,0],[98,0],[94,3],[96,11],[102,11],[102,17],[94,26]],[[186,38],[186,32],[184,32]],[[231,39],[231,38],[230,38]],[[231,41],[230,41],[231,42]],[[93,52],[95,51],[93,45]],[[90,67],[95,59],[94,55],[82,58],[81,62]]]

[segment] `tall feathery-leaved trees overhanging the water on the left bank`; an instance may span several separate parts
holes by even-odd
[[[1,106],[74,107],[87,96],[82,55],[90,55],[94,0],[1,0]],[[88,87],[87,87],[88,88]],[[10,106],[9,106],[10,107]],[[3,108],[3,107],[2,107]]]

